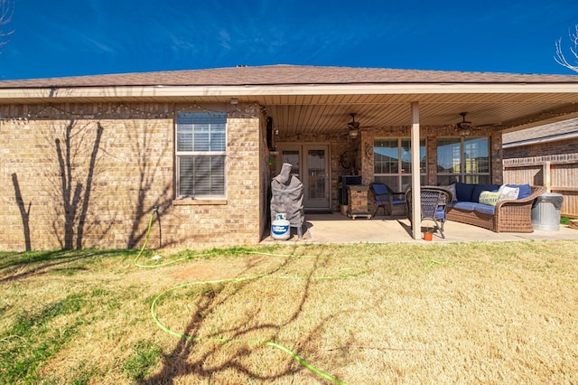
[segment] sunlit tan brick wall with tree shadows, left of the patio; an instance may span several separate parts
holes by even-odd
[[[198,108],[228,109],[219,202],[174,201],[174,114]],[[258,242],[261,114],[252,104],[0,107],[0,249],[140,247],[155,205],[151,248]]]

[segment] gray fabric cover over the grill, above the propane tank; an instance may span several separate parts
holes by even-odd
[[[284,163],[271,181],[271,223],[284,212],[292,227],[303,225],[303,183],[291,174],[291,164]]]

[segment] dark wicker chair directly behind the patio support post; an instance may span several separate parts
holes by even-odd
[[[433,221],[433,227],[440,232],[442,238],[445,238],[445,235],[443,235],[443,223],[447,221],[446,208],[447,204],[452,202],[452,193],[439,187],[424,186],[421,188],[419,196],[422,208],[422,221]],[[409,218],[413,227],[411,189],[406,192],[406,202],[407,218]]]

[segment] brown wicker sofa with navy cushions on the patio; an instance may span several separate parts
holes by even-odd
[[[521,194],[520,198],[499,201],[495,206],[489,206],[478,202],[480,192],[497,189],[499,185],[454,183],[453,188],[446,187],[453,194],[452,203],[447,208],[447,219],[496,232],[533,232],[532,204],[538,196],[546,192],[546,188],[529,184],[517,186],[519,186],[520,191],[526,192]],[[471,191],[471,195],[468,200],[469,191]]]

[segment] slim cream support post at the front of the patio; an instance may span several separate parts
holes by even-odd
[[[412,238],[420,239],[422,232],[421,174],[419,159],[419,103],[412,103]]]

